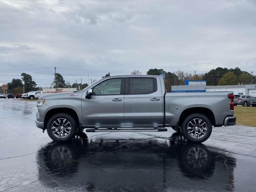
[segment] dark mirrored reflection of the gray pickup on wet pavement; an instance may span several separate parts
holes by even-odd
[[[234,188],[236,159],[203,144],[172,139],[83,139],[47,144],[38,151],[37,163],[38,180],[53,189],[223,191]]]

